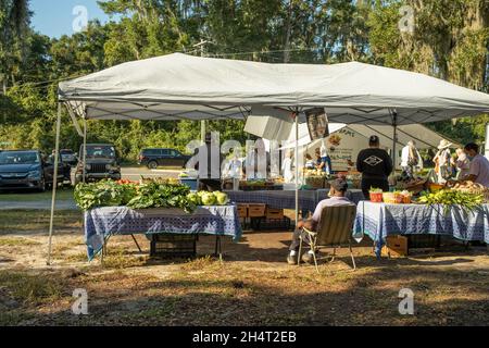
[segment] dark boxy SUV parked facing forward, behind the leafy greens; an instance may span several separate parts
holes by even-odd
[[[87,144],[86,163],[84,163],[84,146],[79,149],[79,162],[76,166],[75,185],[83,182],[84,166],[86,182],[103,178],[121,179],[121,166],[115,148],[110,144]]]

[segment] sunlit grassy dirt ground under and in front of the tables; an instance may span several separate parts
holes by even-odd
[[[79,212],[60,212],[53,264],[46,265],[47,212],[0,212],[0,325],[488,325],[486,247],[444,246],[404,259],[376,260],[365,243],[334,262],[290,266],[289,232],[225,240],[224,260],[155,260],[149,241],[113,237],[109,256],[87,263]],[[326,250],[328,251],[328,250]],[[326,252],[323,253],[323,257]],[[414,293],[414,315],[401,315],[401,289]],[[75,289],[88,315],[75,315]]]

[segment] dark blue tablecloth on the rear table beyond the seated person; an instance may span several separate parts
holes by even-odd
[[[329,190],[300,190],[299,191],[299,210],[314,212],[317,203],[323,199],[327,199]],[[226,191],[229,199],[235,203],[260,203],[266,204],[272,209],[292,209],[296,210],[296,191]],[[354,203],[363,200],[361,190],[348,191],[347,197]]]

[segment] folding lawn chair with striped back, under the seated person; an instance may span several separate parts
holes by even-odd
[[[299,256],[302,254],[302,245],[306,244],[311,250],[314,251],[314,264],[316,271],[319,273],[317,266],[316,251],[325,248],[334,248],[333,259],[335,261],[336,249],[347,246],[350,248],[350,256],[353,263],[353,270],[356,270],[355,258],[353,257],[352,244],[352,231],[353,223],[356,216],[356,206],[339,206],[339,207],[325,207],[323,209],[319,224],[316,232],[303,228],[303,233],[300,236]],[[299,264],[301,260],[299,257]]]

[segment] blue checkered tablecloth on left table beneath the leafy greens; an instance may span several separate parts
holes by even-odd
[[[127,207],[98,208],[85,213],[85,241],[91,261],[112,235],[209,234],[242,235],[236,206],[199,207],[187,214],[179,209],[133,210]]]

